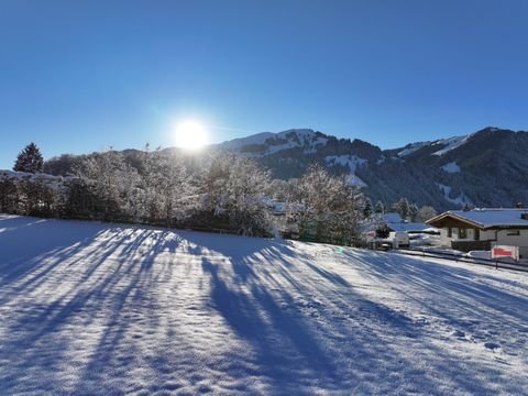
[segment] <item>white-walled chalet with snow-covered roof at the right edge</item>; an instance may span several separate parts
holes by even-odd
[[[440,230],[443,246],[469,252],[510,245],[528,257],[528,209],[450,210],[427,223]]]

